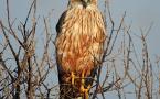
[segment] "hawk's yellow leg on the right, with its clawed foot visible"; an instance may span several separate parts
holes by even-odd
[[[83,94],[85,94],[85,96],[84,96],[85,99],[88,99],[88,97],[89,97],[88,91],[89,91],[89,89],[90,89],[90,85],[89,85],[87,88],[84,87],[84,85],[85,85],[84,73],[85,73],[85,70],[83,70],[83,73],[82,73],[81,91],[82,91]]]

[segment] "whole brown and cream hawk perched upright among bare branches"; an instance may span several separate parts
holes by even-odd
[[[97,0],[70,0],[56,32],[60,97],[88,97],[106,38]]]

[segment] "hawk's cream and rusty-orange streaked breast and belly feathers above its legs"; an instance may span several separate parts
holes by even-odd
[[[72,9],[67,11],[62,31],[56,38],[58,62],[63,69],[93,68],[99,61],[105,41],[105,28],[98,10]]]

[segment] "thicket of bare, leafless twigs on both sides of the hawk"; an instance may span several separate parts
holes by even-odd
[[[39,19],[36,0],[33,0],[24,20],[11,18],[10,0],[6,0],[7,16],[0,19],[0,98],[2,99],[57,99],[58,82],[54,54],[54,36],[50,16]],[[109,94],[117,99],[158,99],[160,96],[160,57],[152,62],[148,37],[152,24],[132,33],[121,14],[115,22],[105,0],[108,40],[97,70],[90,99],[105,99]],[[7,21],[6,21],[7,20]],[[42,35],[39,23],[43,22]],[[19,24],[17,24],[17,22]],[[40,37],[41,36],[41,37]],[[138,46],[137,45],[138,42]],[[54,76],[54,79],[51,79]]]

